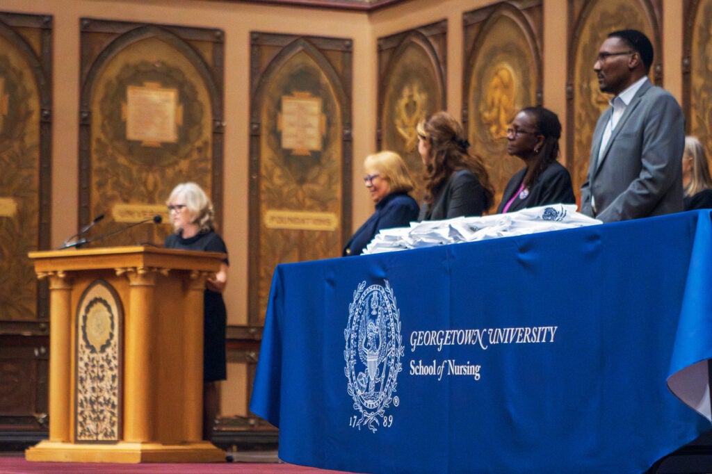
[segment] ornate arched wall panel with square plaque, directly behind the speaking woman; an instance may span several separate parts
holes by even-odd
[[[221,222],[223,32],[82,19],[79,223],[105,215],[95,245],[162,243],[165,200],[195,181]],[[91,238],[95,238],[91,237]]]

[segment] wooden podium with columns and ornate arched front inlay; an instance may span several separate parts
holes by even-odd
[[[206,463],[203,291],[221,253],[31,252],[50,289],[49,439],[27,460]]]

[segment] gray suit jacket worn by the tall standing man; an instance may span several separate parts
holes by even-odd
[[[666,90],[644,83],[599,157],[612,112],[608,107],[601,114],[593,134],[581,212],[613,222],[682,211],[685,119],[680,105]]]

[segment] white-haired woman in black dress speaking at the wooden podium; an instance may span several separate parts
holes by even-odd
[[[166,248],[227,254],[223,239],[213,226],[213,204],[195,183],[182,183],[171,192],[168,211],[174,233],[166,238]],[[227,283],[229,260],[224,258],[220,270],[206,280],[204,293],[203,344],[203,438],[210,441],[214,420],[219,411],[216,381],[226,379],[225,332],[227,312],[222,292]]]

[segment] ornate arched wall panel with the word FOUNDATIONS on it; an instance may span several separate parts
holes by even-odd
[[[352,41],[252,33],[249,322],[278,263],[340,256],[351,231]]]

